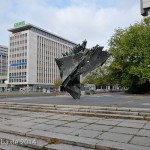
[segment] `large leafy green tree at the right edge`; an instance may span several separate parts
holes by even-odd
[[[112,62],[109,80],[127,87],[131,93],[150,89],[150,19],[115,30],[109,41]]]

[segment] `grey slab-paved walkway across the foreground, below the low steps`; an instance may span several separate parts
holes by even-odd
[[[150,150],[150,122],[0,109],[0,149],[38,148]]]

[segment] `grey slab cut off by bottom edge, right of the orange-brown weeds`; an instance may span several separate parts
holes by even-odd
[[[45,146],[48,150],[92,150],[89,148],[73,146],[68,144],[49,144]]]

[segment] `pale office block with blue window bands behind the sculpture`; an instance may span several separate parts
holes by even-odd
[[[9,84],[15,87],[50,88],[59,78],[55,58],[68,52],[76,44],[31,24],[8,31]]]

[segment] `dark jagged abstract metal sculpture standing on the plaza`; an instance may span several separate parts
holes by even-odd
[[[96,45],[91,49],[86,48],[87,41],[75,46],[70,52],[62,53],[62,58],[55,58],[60,70],[62,87],[70,93],[74,99],[80,99],[80,75],[87,73],[103,65],[110,54],[102,51],[103,47]]]

